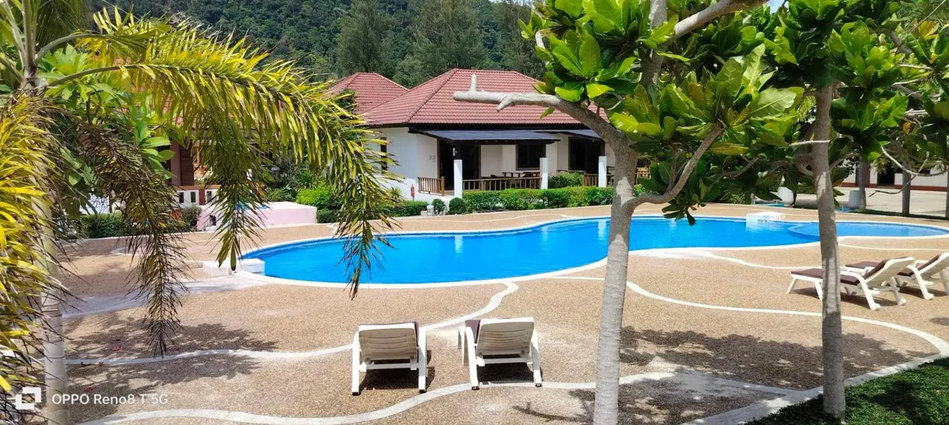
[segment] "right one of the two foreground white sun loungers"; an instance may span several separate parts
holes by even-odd
[[[478,389],[477,366],[527,363],[535,386],[541,386],[540,353],[532,317],[465,321],[458,326],[462,364],[468,363],[472,389]]]

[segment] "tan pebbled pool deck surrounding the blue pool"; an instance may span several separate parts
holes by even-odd
[[[660,210],[648,206],[637,213]],[[718,204],[698,213],[744,217],[758,211],[816,218],[807,210]],[[401,220],[400,231],[507,229],[606,214],[608,207],[587,207],[413,217]],[[852,213],[838,218],[947,224]],[[261,232],[260,245],[333,231],[327,225],[269,229]],[[186,235],[193,261],[214,257],[210,237]],[[76,423],[546,424],[583,423],[591,415],[604,268],[482,286],[363,288],[351,301],[338,287],[262,284],[240,276],[202,279],[195,268],[196,290],[183,299],[175,350],[154,359],[136,322],[142,311],[107,311],[132,305],[124,296],[131,259],[114,252],[121,246],[94,240],[73,252],[76,276],[67,284],[87,301],[76,305],[106,312],[74,311],[67,321],[67,352],[74,363],[70,382],[77,393],[161,394],[168,402],[77,405],[71,408]],[[906,254],[929,258],[942,250],[949,250],[949,237],[841,241],[844,262]],[[785,293],[792,268],[820,264],[817,246],[630,255],[623,423],[679,424],[708,416],[713,417],[707,423],[716,423],[718,414],[777,397],[805,397],[820,385],[819,301],[812,287]],[[878,297],[883,305],[878,311],[860,297],[845,297],[848,376],[949,354],[943,341],[949,340],[949,296],[941,286],[933,289],[936,298],[929,301],[918,290],[904,290],[909,302],[902,306]],[[533,388],[527,368],[519,366],[484,368],[479,375],[512,380],[514,386],[467,388],[455,326],[473,315],[534,317],[544,388]],[[354,329],[359,323],[396,321],[427,327],[429,392],[419,396],[411,374],[395,370],[370,373],[363,395],[350,396],[346,344]],[[98,360],[105,364],[81,364]]]

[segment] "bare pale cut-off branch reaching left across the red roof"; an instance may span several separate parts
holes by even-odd
[[[561,111],[574,120],[580,121],[590,130],[603,138],[607,143],[629,144],[629,139],[622,131],[617,130],[609,121],[590,111],[581,104],[567,102],[554,95],[543,93],[500,93],[477,90],[477,74],[472,74],[472,85],[468,91],[456,91],[453,97],[458,102],[474,102],[496,104],[501,111],[509,106],[533,105],[546,106]]]

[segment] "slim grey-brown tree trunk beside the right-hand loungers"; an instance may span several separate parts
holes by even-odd
[[[830,133],[830,102],[833,86],[817,95],[817,119],[814,139],[827,140]],[[810,153],[817,192],[817,221],[821,237],[821,266],[824,269],[824,303],[821,341],[824,362],[824,412],[843,417],[847,408],[844,395],[844,331],[840,311],[840,247],[837,245],[837,217],[833,199],[828,143],[815,143]]]

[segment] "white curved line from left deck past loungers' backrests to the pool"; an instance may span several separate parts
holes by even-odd
[[[475,317],[487,314],[491,312],[494,308],[497,308],[501,305],[501,301],[504,297],[512,294],[514,291],[519,289],[519,286],[506,282],[504,283],[506,288],[504,290],[492,295],[491,300],[488,301],[488,305],[485,305],[481,309],[474,311],[473,313],[466,314],[464,316],[456,317],[449,319],[444,322],[426,324],[421,326],[423,330],[436,329],[439,327],[450,326],[456,323],[462,323],[469,319],[474,319]],[[148,358],[135,358],[135,359],[67,359],[66,364],[102,364],[102,365],[124,365],[124,364],[141,364],[141,363],[154,363],[157,361],[168,361],[168,360],[181,360],[181,359],[190,359],[201,356],[217,356],[217,355],[229,355],[229,356],[242,356],[256,360],[303,360],[309,359],[318,356],[325,356],[327,354],[339,353],[343,351],[349,351],[351,344],[340,345],[338,347],[323,348],[320,350],[314,351],[289,351],[289,352],[274,352],[274,351],[253,351],[253,350],[242,350],[242,349],[216,349],[216,350],[199,350],[191,351],[187,353],[179,353],[172,356],[165,357],[148,357]]]

